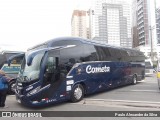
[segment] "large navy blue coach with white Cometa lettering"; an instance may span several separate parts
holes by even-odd
[[[84,95],[136,84],[144,77],[145,56],[138,50],[61,37],[27,50],[15,94],[30,107],[78,102]]]

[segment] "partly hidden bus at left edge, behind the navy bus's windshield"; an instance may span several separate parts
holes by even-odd
[[[0,52],[0,69],[3,70],[7,76],[12,78],[9,81],[9,89],[8,89],[9,94],[14,94],[16,76],[18,75],[18,72],[20,70],[23,58],[19,57],[13,59],[10,66],[8,66],[7,59],[10,58],[11,56],[22,53],[24,54],[24,52],[21,51],[6,51],[6,50]]]

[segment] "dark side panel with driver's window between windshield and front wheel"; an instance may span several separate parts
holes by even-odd
[[[46,58],[43,86],[50,84],[50,87],[45,91],[46,98],[55,98],[55,96],[65,96],[65,74],[62,72],[62,67],[59,63],[60,51],[50,50]],[[61,95],[62,94],[62,95]]]

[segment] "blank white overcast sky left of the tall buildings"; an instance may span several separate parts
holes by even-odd
[[[0,0],[0,46],[26,49],[55,37],[70,36],[73,9],[89,8],[91,1]]]

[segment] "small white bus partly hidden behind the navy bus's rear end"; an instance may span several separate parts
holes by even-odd
[[[151,59],[145,59],[145,75],[153,75],[153,62]]]

